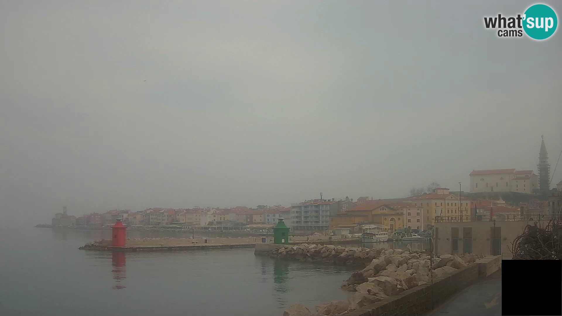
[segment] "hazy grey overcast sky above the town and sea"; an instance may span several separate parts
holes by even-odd
[[[552,171],[562,34],[483,26],[530,4],[2,1],[0,222]]]

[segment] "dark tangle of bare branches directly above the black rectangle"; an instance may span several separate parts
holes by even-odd
[[[527,225],[511,244],[513,260],[561,260],[562,220]]]

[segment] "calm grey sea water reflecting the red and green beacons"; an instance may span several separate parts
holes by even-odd
[[[253,249],[112,254],[78,250],[109,231],[0,230],[0,315],[282,315],[342,300],[350,270]],[[161,237],[130,232],[129,237]]]

